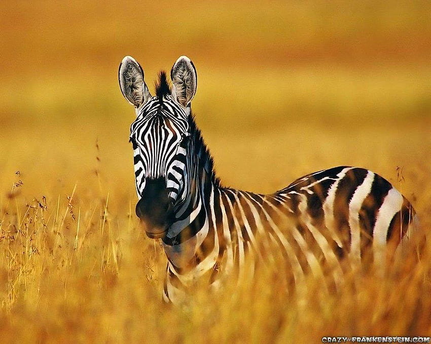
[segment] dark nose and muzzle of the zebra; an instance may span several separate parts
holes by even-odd
[[[142,220],[150,238],[162,238],[173,222],[173,207],[169,201],[164,178],[147,179],[136,215]]]

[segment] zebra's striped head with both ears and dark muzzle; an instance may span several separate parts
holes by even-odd
[[[178,58],[171,70],[172,90],[160,73],[156,96],[144,81],[141,66],[130,56],[120,64],[119,81],[124,98],[136,109],[130,142],[136,193],[136,215],[151,238],[161,238],[175,220],[175,209],[187,199],[193,171],[190,138],[190,102],[197,75],[189,58]]]

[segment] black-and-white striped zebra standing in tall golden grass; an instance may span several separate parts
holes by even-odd
[[[161,239],[166,302],[181,303],[197,281],[218,286],[232,271],[240,279],[247,262],[268,261],[274,250],[295,285],[330,266],[337,287],[345,257],[384,265],[408,241],[413,206],[365,168],[320,170],[267,195],[223,187],[191,111],[192,61],[179,57],[170,79],[161,71],[152,96],[136,60],[126,56],[119,67],[121,92],[136,111],[136,215],[148,237]]]

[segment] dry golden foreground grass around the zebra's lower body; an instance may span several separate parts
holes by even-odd
[[[310,277],[295,301],[274,266],[253,284],[215,294],[201,287],[188,308],[174,308],[160,299],[162,249],[142,234],[132,205],[113,213],[108,197],[78,193],[27,203],[16,195],[24,187],[14,188],[2,211],[4,342],[318,342],[430,333],[429,241],[418,263],[412,252],[388,277],[349,276],[334,295]]]

